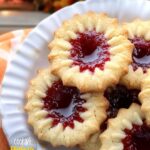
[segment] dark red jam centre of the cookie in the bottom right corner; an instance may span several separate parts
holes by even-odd
[[[124,130],[126,137],[122,140],[124,150],[150,150],[150,127],[133,125],[132,130]]]

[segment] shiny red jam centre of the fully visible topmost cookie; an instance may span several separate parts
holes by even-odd
[[[81,72],[85,70],[94,72],[95,68],[104,70],[105,63],[110,60],[108,51],[110,46],[103,33],[96,31],[78,33],[78,37],[72,39],[70,43],[73,65],[80,66]]]

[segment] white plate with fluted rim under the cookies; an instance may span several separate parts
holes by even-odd
[[[64,20],[76,13],[86,11],[106,12],[120,21],[131,21],[135,18],[150,19],[150,2],[146,0],[89,0],[66,7],[43,20],[28,36],[8,66],[1,93],[1,112],[3,129],[10,143],[17,138],[31,137],[37,143],[37,150],[44,150],[34,137],[27,124],[24,112],[25,93],[29,80],[38,68],[47,67],[48,43],[54,31]],[[55,150],[49,145],[49,150]],[[57,150],[59,148],[56,148]],[[60,150],[65,148],[60,148]]]

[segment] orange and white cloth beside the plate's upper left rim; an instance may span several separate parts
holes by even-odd
[[[0,36],[0,84],[2,82],[7,63],[11,60],[12,54],[23,42],[31,29],[17,30]]]

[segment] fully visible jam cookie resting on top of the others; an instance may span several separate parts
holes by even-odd
[[[49,49],[52,72],[63,84],[91,92],[117,84],[127,73],[133,45],[117,19],[88,12],[65,21]]]

